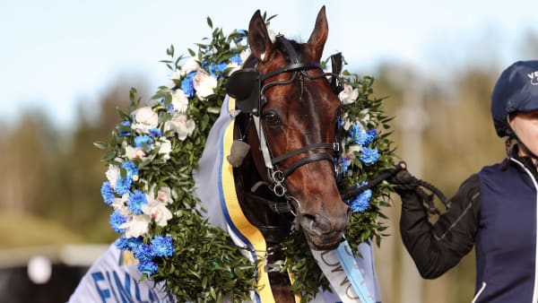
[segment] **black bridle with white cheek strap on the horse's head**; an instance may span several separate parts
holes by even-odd
[[[269,180],[269,184],[264,184],[269,186],[273,194],[277,197],[284,197],[286,202],[276,203],[261,196],[251,196],[256,198],[256,200],[262,201],[269,205],[273,212],[293,213],[290,203],[295,203],[296,208],[299,208],[300,205],[299,201],[295,197],[287,194],[287,189],[284,185],[285,178],[290,176],[291,173],[299,167],[313,161],[330,160],[331,164],[334,165],[334,159],[337,158],[341,152],[340,141],[335,137],[334,142],[332,143],[321,142],[308,144],[307,146],[303,146],[297,150],[273,157],[273,152],[271,152],[271,148],[267,143],[264,126],[259,117],[262,112],[262,108],[264,108],[265,104],[267,103],[265,91],[276,85],[289,84],[294,82],[296,79],[302,80],[302,78],[307,78],[309,80],[316,80],[324,77],[330,77],[331,87],[334,93],[337,95],[343,90],[343,83],[342,79],[340,78],[340,72],[342,70],[342,56],[341,54],[331,56],[333,71],[328,73],[325,72],[322,66],[318,63],[301,62],[295,48],[293,48],[291,45],[290,40],[284,38],[282,35],[276,36],[276,43],[282,44],[284,51],[289,56],[289,65],[265,75],[262,75],[256,68],[241,69],[230,75],[230,78],[226,84],[226,89],[228,94],[236,99],[236,109],[242,113],[247,113],[254,123]],[[308,74],[308,70],[311,69],[318,69],[322,73],[315,75]],[[286,73],[291,73],[291,78],[289,80],[267,82],[268,79],[275,75]],[[299,158],[299,160],[292,161],[287,168],[281,168],[281,164],[284,160],[289,160],[292,157],[315,150],[317,150],[317,152],[308,153],[308,155]],[[337,170],[335,171],[337,173]],[[256,184],[251,192],[254,193],[259,185],[259,183]]]

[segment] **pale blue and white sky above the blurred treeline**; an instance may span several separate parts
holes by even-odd
[[[246,29],[256,9],[278,14],[271,28],[308,39],[325,4],[329,39],[325,56],[342,51],[360,74],[390,60],[425,77],[454,73],[458,66],[521,59],[524,37],[538,34],[531,0],[408,1],[180,1],[48,0],[0,3],[0,121],[42,108],[56,126],[68,128],[76,104],[92,108],[108,85],[141,76],[151,87],[168,82],[158,61],[173,44],[177,52],[210,35],[205,18],[225,32]],[[373,74],[375,76],[375,74]]]

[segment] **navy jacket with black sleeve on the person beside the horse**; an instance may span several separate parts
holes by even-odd
[[[446,273],[474,246],[474,303],[536,303],[537,175],[527,158],[485,167],[434,224],[420,195],[399,191],[402,239],[422,277]]]

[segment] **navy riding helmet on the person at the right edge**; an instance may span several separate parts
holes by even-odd
[[[538,109],[538,60],[508,66],[491,93],[491,116],[499,137],[511,134],[508,115]]]

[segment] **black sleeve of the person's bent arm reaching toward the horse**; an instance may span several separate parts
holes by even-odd
[[[478,230],[480,178],[473,175],[450,199],[447,212],[430,223],[423,201],[412,190],[402,198],[400,232],[404,246],[424,279],[435,279],[454,267],[473,249]]]

